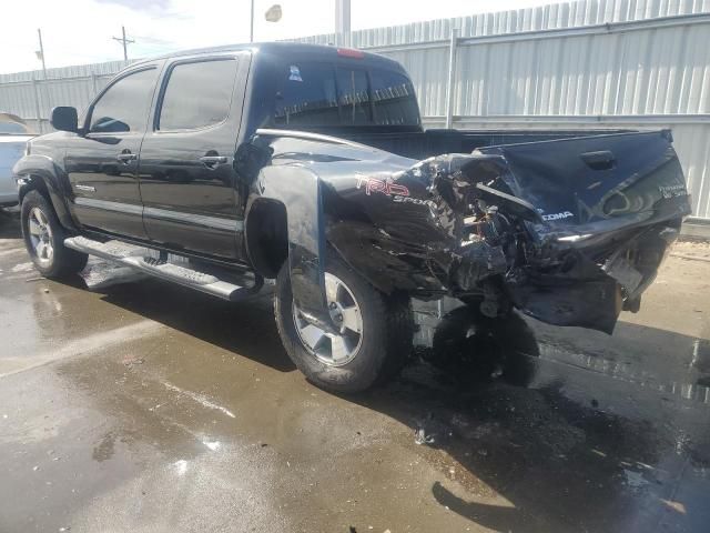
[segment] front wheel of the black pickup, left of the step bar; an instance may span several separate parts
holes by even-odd
[[[80,272],[89,257],[64,247],[67,233],[54,208],[39,191],[22,199],[22,238],[34,268],[45,278],[64,278]]]

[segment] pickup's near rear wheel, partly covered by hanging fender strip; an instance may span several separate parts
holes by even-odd
[[[396,375],[412,353],[414,321],[408,298],[386,295],[339,258],[326,265],[326,300],[338,335],[305,322],[294,305],[288,262],[276,280],[274,314],[286,353],[317,386],[365,391]]]

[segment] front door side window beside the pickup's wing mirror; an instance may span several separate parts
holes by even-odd
[[[92,133],[144,131],[158,78],[156,69],[141,70],[121,78],[94,104]]]

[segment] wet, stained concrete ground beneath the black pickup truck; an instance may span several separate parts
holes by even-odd
[[[710,262],[613,336],[517,320],[447,370],[470,324],[418,309],[403,376],[338,398],[268,295],[48,281],[0,215],[0,532],[709,531]]]

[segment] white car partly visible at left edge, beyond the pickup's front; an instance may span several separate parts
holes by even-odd
[[[27,141],[33,137],[22,119],[0,113],[0,208],[18,203],[18,185],[12,178],[12,167],[24,155]]]

